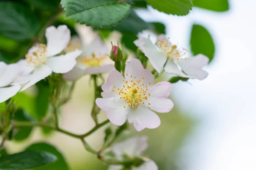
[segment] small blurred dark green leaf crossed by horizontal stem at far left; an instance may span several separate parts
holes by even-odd
[[[30,116],[28,113],[26,113],[26,111],[23,110],[18,110],[15,113],[14,119],[18,121],[35,121],[32,116]],[[32,127],[19,127],[17,133],[14,135],[14,139],[16,141],[24,140],[29,137],[31,131]]]

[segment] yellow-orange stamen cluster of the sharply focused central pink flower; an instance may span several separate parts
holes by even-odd
[[[126,80],[126,81],[125,81]],[[120,96],[120,99],[124,99],[125,102],[127,102],[127,105],[125,107],[130,107],[135,108],[138,107],[140,104],[147,104],[150,105],[150,103],[146,102],[148,100],[148,96],[150,94],[147,92],[148,91],[148,85],[143,84],[144,77],[142,80],[137,80],[136,77],[128,76],[126,74],[125,80],[123,80],[124,84],[122,88],[117,88],[114,86],[113,92],[118,94]]]

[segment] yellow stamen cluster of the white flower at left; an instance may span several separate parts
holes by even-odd
[[[32,46],[32,48],[35,48]],[[27,66],[36,68],[38,65],[46,63],[46,59],[49,57],[47,55],[47,46],[45,44],[38,44],[36,50],[30,54],[25,55],[27,60]]]

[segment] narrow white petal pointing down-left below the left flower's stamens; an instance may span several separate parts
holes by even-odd
[[[21,91],[24,91],[30,86],[35,85],[35,83],[49,76],[51,73],[52,70],[47,65],[39,65],[37,68],[35,68],[34,72],[32,73],[30,81],[21,89]]]

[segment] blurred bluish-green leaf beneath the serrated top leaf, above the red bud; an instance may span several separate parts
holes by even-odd
[[[150,23],[146,23],[141,19],[134,10],[131,10],[129,16],[118,26],[115,26],[111,29],[120,31],[122,33],[133,33],[137,34],[140,31],[145,29],[150,29],[153,26]]]

